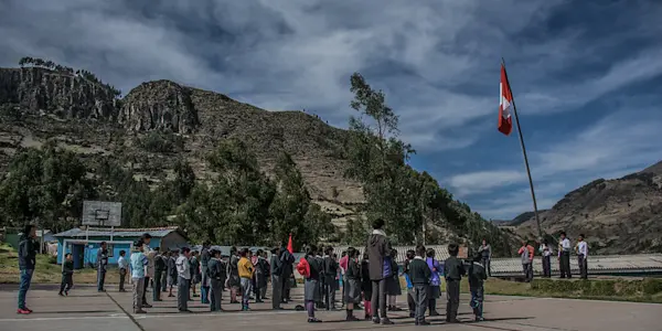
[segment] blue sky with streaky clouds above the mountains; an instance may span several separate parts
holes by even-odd
[[[360,72],[426,170],[485,218],[533,210],[496,130],[503,57],[540,209],[662,160],[655,0],[0,0],[0,66],[42,57],[125,93],[152,79],[346,128]]]

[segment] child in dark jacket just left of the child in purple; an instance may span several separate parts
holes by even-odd
[[[414,301],[416,302],[416,325],[429,325],[430,323],[425,320],[425,309],[429,305],[427,298],[430,286],[430,279],[433,271],[423,256],[426,254],[425,246],[416,246],[416,256],[409,264],[409,276],[412,277],[412,285],[414,286]]]

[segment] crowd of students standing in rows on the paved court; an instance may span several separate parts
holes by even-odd
[[[402,295],[401,276],[407,281],[409,316],[415,319],[417,325],[428,324],[426,310],[429,311],[429,316],[439,314],[436,306],[441,295],[441,277],[446,279],[447,322],[458,322],[460,280],[466,275],[469,278],[470,306],[473,308],[476,320],[483,319],[482,284],[487,279],[487,273],[480,264],[481,254],[467,267],[465,261],[457,257],[459,247],[456,244],[448,246],[450,257],[442,263],[435,259],[434,249],[426,250],[419,245],[415,250],[407,252],[407,259],[401,270],[396,263],[397,252],[392,248],[383,226],[382,220],[374,222],[374,229],[363,255],[359,249],[350,247],[342,252],[339,259],[332,247],[310,245],[306,248],[305,257],[296,267],[305,279],[302,309],[307,311],[308,322],[321,322],[316,317],[316,310],[338,309],[335,292],[342,289],[340,305],[345,309],[346,321],[360,320],[354,312],[362,309],[364,320],[393,324],[387,311],[401,310],[396,307],[396,298]],[[223,258],[220,250],[210,248],[209,243],[203,244],[200,253],[191,252],[188,247],[160,253],[158,247],[150,248],[150,241],[149,234],[142,235],[132,246],[129,256],[122,250],[118,259],[119,291],[126,291],[126,278],[129,276],[132,282],[135,313],[146,313],[146,309],[152,308],[146,296],[148,288],[152,289],[152,301],[162,301],[162,293],[174,297],[173,289],[177,288],[180,312],[190,312],[189,302],[195,297],[200,297],[202,303],[209,305],[211,311],[222,311],[225,290],[229,291],[231,303],[241,303],[242,310],[248,311],[250,300],[264,302],[267,299],[269,280],[273,309],[281,309],[282,302],[291,300],[289,292],[295,257],[285,247],[274,248],[271,259],[267,260],[267,252],[260,249],[254,254],[248,248],[235,247],[231,248],[229,257]],[[105,291],[108,253],[105,243],[100,246],[97,256],[97,286],[99,291]],[[25,244],[22,249],[25,250],[24,254],[29,254],[30,247]],[[33,259],[31,264],[34,265]],[[23,274],[28,273],[30,271],[22,273],[22,280],[25,278]],[[196,293],[197,285],[200,296]],[[72,286],[73,260],[71,254],[67,254],[63,263],[60,295],[67,296]],[[23,287],[21,289],[23,290]],[[21,311],[28,311],[28,308],[24,303],[24,292],[20,291],[19,312]]]

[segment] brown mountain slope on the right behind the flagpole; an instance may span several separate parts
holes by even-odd
[[[585,234],[595,254],[662,252],[662,162],[620,179],[595,180],[540,214],[543,229],[575,239]],[[516,229],[536,237],[530,217]]]

